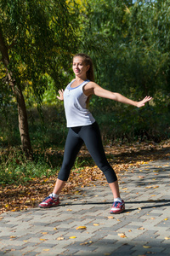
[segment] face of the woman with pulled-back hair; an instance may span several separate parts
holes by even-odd
[[[83,61],[81,56],[76,56],[73,59],[72,70],[77,77],[84,77],[89,69],[89,65],[87,66]]]

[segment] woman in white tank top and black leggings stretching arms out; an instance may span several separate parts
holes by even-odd
[[[65,142],[64,160],[53,193],[45,198],[39,204],[39,207],[47,208],[59,205],[59,193],[65,186],[71,172],[71,167],[74,165],[77,154],[82,147],[82,143],[85,143],[94,162],[104,172],[107,182],[110,185],[114,197],[110,212],[123,212],[125,210],[125,204],[119,193],[116,173],[106,160],[99,126],[92,113],[88,111],[87,104],[89,97],[96,95],[140,108],[146,102],[149,102],[151,97],[146,96],[142,101],[134,102],[119,93],[101,88],[98,84],[94,83],[93,63],[88,55],[75,55],[73,57],[72,69],[75,73],[75,79],[67,85],[65,91],[59,90],[59,96],[57,96],[60,101],[64,100],[65,117],[67,127],[69,128]]]

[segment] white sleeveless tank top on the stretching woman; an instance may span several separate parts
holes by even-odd
[[[89,80],[84,81],[82,84],[75,88],[71,88],[71,81],[64,91],[64,106],[67,127],[77,127],[84,125],[92,125],[95,119],[86,107],[88,96],[83,93],[83,86],[88,84]]]

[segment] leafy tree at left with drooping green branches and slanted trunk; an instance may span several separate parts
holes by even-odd
[[[2,0],[0,3],[0,59],[3,88],[9,85],[18,105],[23,151],[31,155],[23,91],[30,86],[37,102],[46,90],[47,75],[60,84],[77,40],[65,0]],[[59,86],[59,85],[58,85]],[[7,88],[7,87],[6,87]]]

